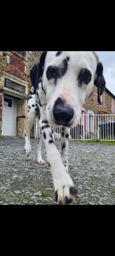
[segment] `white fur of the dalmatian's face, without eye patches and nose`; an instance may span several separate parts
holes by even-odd
[[[43,87],[46,91],[47,108],[46,115],[49,123],[55,124],[53,119],[53,106],[55,101],[60,96],[66,99],[66,102],[70,104],[74,110],[74,117],[72,119],[72,125],[74,127],[78,124],[81,116],[81,109],[83,107],[83,102],[89,97],[90,93],[93,91],[95,71],[97,67],[97,59],[93,52],[62,52],[58,57],[55,56],[56,52],[48,52],[46,55],[46,61],[43,73]],[[46,77],[46,71],[49,66],[58,66],[60,62],[66,58],[70,58],[68,61],[68,69],[64,77],[59,79],[54,84],[54,79],[48,81]],[[92,73],[92,79],[88,85],[83,85],[78,87],[78,73],[81,68],[88,68]],[[49,111],[50,109],[50,111]]]

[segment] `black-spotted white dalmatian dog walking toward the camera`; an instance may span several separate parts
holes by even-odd
[[[38,118],[41,128],[37,145],[38,164],[45,164],[41,155],[44,143],[55,187],[55,201],[68,204],[77,193],[68,172],[70,128],[78,125],[83,102],[92,94],[94,84],[101,104],[101,95],[106,88],[103,66],[93,51],[44,51],[40,61],[32,67],[30,77],[32,90],[27,97],[26,154],[31,154],[30,131]],[[52,125],[61,127],[61,155],[55,146]]]

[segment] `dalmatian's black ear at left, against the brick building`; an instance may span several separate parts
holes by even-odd
[[[46,57],[47,51],[43,51],[41,57],[40,57],[40,61],[37,62],[31,70],[30,73],[30,78],[32,81],[32,86],[34,87],[34,93],[37,90],[37,85],[40,81],[40,79],[43,76],[43,69],[44,69],[44,61],[45,61],[45,57]]]

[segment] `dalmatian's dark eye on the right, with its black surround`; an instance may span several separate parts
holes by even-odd
[[[82,69],[78,75],[78,80],[80,84],[89,84],[89,81],[91,80],[91,73],[88,69]]]

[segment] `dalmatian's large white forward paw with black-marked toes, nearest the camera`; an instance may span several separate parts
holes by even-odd
[[[69,173],[63,172],[61,177],[54,179],[55,185],[55,201],[59,204],[68,204],[72,202],[74,195],[77,194],[77,189],[74,188],[72,178]]]

